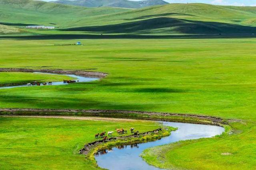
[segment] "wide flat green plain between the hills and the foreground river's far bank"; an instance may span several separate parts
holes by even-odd
[[[71,40],[1,40],[4,68],[49,66],[44,68],[102,71],[109,75],[68,86],[2,89],[0,106],[163,111],[243,119],[245,124],[232,125],[234,133],[230,136],[186,142],[175,147],[175,152],[188,150],[184,159],[179,157],[180,164],[186,162],[183,168],[200,166],[194,164],[198,157],[205,168],[255,165],[255,39],[79,41],[85,45],[60,45],[73,43]],[[35,56],[30,57],[31,53]],[[169,157],[170,152],[162,154]],[[166,167],[180,166],[166,160],[170,161]]]

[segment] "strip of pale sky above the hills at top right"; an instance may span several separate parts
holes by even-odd
[[[44,0],[54,1],[54,0]],[[139,1],[139,0],[134,0]],[[215,5],[256,6],[256,0],[165,0],[169,3],[206,3]]]

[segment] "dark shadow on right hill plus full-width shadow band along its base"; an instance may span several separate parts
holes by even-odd
[[[10,24],[24,25],[22,23]],[[204,39],[256,37],[256,27],[168,17],[150,18],[111,25],[58,29],[60,32],[57,31],[56,34],[47,34],[47,31],[45,30],[45,34],[40,35],[4,35],[0,36],[0,39]],[[61,31],[65,32],[62,33]],[[70,31],[85,31],[85,33],[73,34],[69,33]],[[88,32],[90,34],[86,34]],[[173,33],[180,35],[172,35]]]

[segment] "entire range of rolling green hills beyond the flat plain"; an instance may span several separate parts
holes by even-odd
[[[256,7],[167,4],[137,10],[0,0],[0,24],[54,25],[38,34],[254,35]]]

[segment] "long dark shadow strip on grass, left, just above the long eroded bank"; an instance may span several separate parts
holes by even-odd
[[[62,109],[126,109],[126,110],[143,110],[152,109],[149,104],[123,104],[120,102],[111,102],[106,100],[96,100],[92,98],[73,98],[69,97],[29,97],[23,95],[1,95],[1,107],[8,104],[8,107],[26,107],[26,108],[62,108]]]

